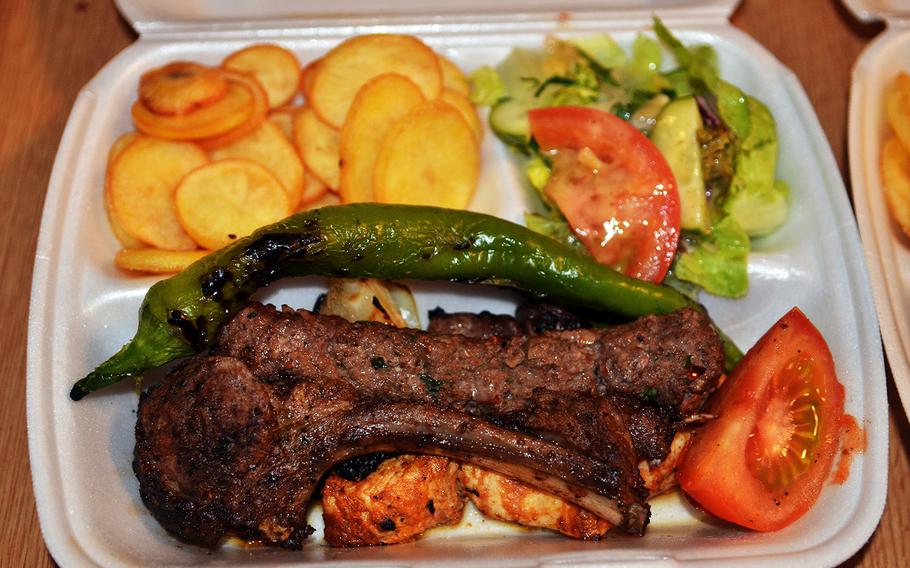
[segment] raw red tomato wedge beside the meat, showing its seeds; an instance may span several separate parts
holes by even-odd
[[[677,468],[683,491],[758,531],[812,507],[837,454],[844,388],[824,338],[798,308],[749,350],[708,412],[718,418],[695,433]]]

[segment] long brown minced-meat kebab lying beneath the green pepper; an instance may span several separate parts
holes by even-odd
[[[690,414],[724,360],[710,322],[688,309],[610,328],[475,339],[254,306],[225,326],[214,351],[277,382],[322,375],[354,381],[368,397],[497,412],[523,408],[544,389],[644,397]]]

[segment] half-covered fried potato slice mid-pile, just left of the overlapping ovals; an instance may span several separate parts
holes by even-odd
[[[337,189],[341,176],[338,167],[341,134],[305,106],[294,116],[294,142],[307,172],[329,188]]]

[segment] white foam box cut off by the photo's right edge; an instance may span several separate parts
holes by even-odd
[[[889,214],[880,160],[882,145],[892,134],[885,113],[885,87],[899,71],[910,72],[910,1],[850,0],[846,4],[858,18],[884,20],[887,25],[853,68],[850,178],[882,340],[904,411],[910,414],[910,239]]]

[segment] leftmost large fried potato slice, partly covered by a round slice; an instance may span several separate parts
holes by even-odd
[[[177,220],[174,192],[208,156],[190,142],[137,136],[108,171],[114,216],[134,238],[165,250],[192,250],[196,242]]]

